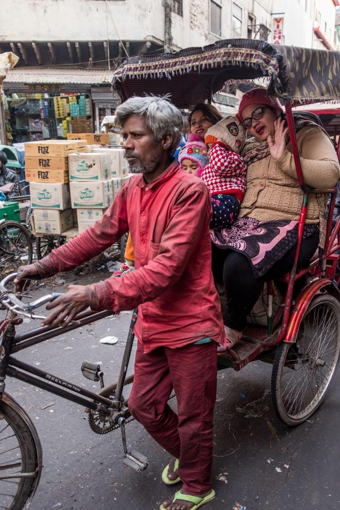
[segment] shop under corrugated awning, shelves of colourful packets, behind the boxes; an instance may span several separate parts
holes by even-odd
[[[117,106],[108,79],[103,70],[12,69],[4,82],[4,143],[99,131],[101,117]]]

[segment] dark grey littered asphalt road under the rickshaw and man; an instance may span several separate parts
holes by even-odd
[[[68,282],[72,278],[73,282],[93,282],[104,274],[70,276]],[[49,286],[41,286],[32,295],[37,297],[50,290]],[[62,291],[63,287],[53,290]],[[28,348],[18,358],[88,389],[99,389],[82,376],[81,364],[84,360],[100,363],[106,384],[116,380],[129,320],[130,314],[123,313],[92,323]],[[25,322],[20,327],[31,326],[37,323]],[[118,342],[99,343],[108,335],[116,336]],[[132,363],[128,373],[133,373]],[[230,369],[219,372],[213,467],[217,498],[204,508],[338,510],[339,377],[337,373],[327,399],[311,420],[291,428],[273,411],[270,365],[256,362],[239,373]],[[120,431],[96,435],[79,405],[10,378],[6,390],[30,415],[43,447],[40,484],[25,508],[156,509],[174,492],[160,477],[169,460],[167,453],[137,422],[128,424],[126,433],[129,446],[150,461],[143,473],[122,464]],[[251,412],[247,414],[249,407]]]

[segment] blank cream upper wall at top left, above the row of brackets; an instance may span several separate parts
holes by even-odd
[[[162,0],[11,0],[3,2],[2,18],[7,41],[164,37]]]

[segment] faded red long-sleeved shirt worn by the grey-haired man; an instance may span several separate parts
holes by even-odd
[[[92,310],[132,310],[144,352],[210,337],[225,343],[211,271],[211,197],[197,177],[172,163],[145,184],[135,175],[93,226],[37,263],[41,274],[71,270],[128,230],[136,271],[88,285]]]

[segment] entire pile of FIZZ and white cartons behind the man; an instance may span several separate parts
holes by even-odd
[[[86,139],[25,144],[37,234],[62,234],[76,225],[83,232],[101,218],[129,179],[122,147],[102,147],[102,137],[108,135],[82,136]]]

